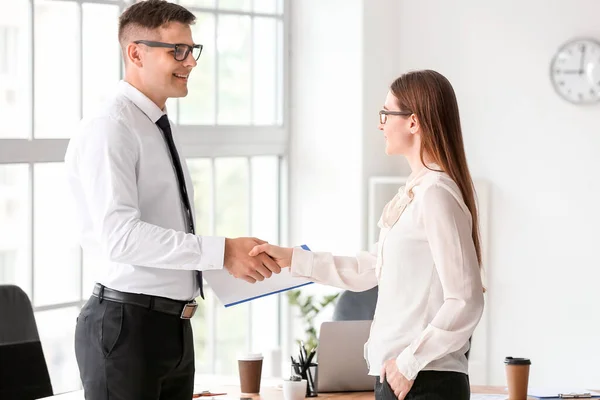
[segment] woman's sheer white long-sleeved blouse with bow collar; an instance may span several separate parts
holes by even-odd
[[[385,207],[377,254],[294,249],[292,273],[353,291],[379,284],[365,344],[370,375],[389,359],[411,380],[422,370],[467,373],[468,340],[484,303],[471,224],[456,183],[423,168]]]

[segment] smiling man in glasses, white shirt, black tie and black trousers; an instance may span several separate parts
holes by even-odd
[[[167,98],[187,94],[202,50],[194,21],[163,0],[121,15],[125,80],[65,156],[82,247],[105,261],[75,332],[88,400],[190,400],[201,271],[226,268],[249,282],[280,272],[248,256],[257,239],[194,234],[191,179],[165,110]]]

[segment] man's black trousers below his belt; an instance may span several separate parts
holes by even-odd
[[[194,341],[189,320],[92,296],[75,329],[87,400],[190,400]]]

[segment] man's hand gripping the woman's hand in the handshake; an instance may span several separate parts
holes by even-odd
[[[280,273],[279,265],[266,254],[259,257],[248,255],[254,246],[263,243],[266,242],[257,238],[226,238],[223,260],[225,269],[234,277],[250,283],[270,278],[272,273]]]

